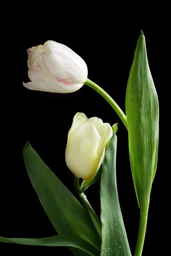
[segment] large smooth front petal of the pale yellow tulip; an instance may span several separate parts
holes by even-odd
[[[71,133],[71,131],[69,131]],[[86,122],[69,136],[65,158],[68,168],[77,177],[88,177],[97,169],[97,146],[100,136],[93,123]]]

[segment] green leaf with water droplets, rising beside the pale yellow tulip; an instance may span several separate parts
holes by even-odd
[[[131,256],[116,184],[116,145],[113,133],[101,172],[101,255]]]

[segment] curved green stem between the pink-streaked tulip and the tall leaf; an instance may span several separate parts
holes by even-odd
[[[94,90],[96,90],[96,92],[98,92],[101,96],[103,96],[104,99],[107,100],[107,102],[112,106],[112,108],[116,111],[116,113],[118,114],[118,116],[120,117],[120,119],[122,120],[123,124],[125,125],[125,127],[127,128],[127,119],[126,116],[124,114],[124,112],[122,111],[121,108],[119,108],[119,106],[116,104],[116,102],[110,97],[109,94],[107,94],[99,85],[95,84],[93,81],[91,81],[90,79],[87,78],[87,81],[84,83],[88,86],[90,86],[91,88],[93,88]],[[128,128],[127,128],[128,129]]]

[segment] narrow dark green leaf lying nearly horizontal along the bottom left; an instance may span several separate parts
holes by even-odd
[[[75,236],[51,236],[46,238],[5,238],[0,236],[0,242],[12,244],[38,245],[38,246],[67,246],[79,248],[88,255],[99,256],[99,250],[89,242]],[[87,250],[88,249],[88,250]],[[91,253],[92,252],[92,253]]]

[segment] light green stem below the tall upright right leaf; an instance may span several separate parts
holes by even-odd
[[[138,237],[136,241],[136,248],[134,256],[141,256],[142,249],[145,240],[145,232],[147,227],[147,216],[148,216],[148,207],[145,211],[140,210],[140,221],[139,221],[139,230],[138,230]]]

